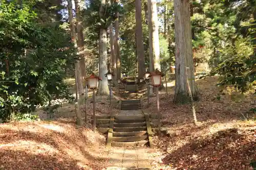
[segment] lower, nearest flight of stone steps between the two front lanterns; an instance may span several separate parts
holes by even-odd
[[[131,110],[126,115],[97,116],[96,124],[98,131],[108,134],[106,147],[151,146],[157,115]]]

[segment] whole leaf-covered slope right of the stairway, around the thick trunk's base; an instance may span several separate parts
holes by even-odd
[[[256,160],[254,89],[242,95],[230,86],[217,87],[217,83],[217,77],[197,81],[197,126],[193,124],[189,104],[173,104],[173,87],[168,89],[168,96],[161,91],[163,133],[153,141],[162,154],[159,169],[253,169],[250,162]],[[151,105],[144,107],[155,112],[155,97],[150,101]]]

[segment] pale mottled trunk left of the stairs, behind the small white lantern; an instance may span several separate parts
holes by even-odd
[[[106,1],[101,0],[99,17],[102,18],[105,13]],[[109,95],[108,80],[105,77],[108,72],[108,53],[106,49],[106,29],[100,28],[99,35],[99,77],[102,81],[99,81],[98,95]]]

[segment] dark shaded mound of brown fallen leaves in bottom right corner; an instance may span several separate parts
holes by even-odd
[[[256,157],[256,140],[253,135],[254,130],[240,131],[232,128],[203,139],[191,139],[165,156],[163,163],[176,169],[249,169],[250,161]],[[165,139],[168,140],[175,138]]]

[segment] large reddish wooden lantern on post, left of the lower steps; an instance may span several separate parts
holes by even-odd
[[[95,115],[95,89],[98,87],[98,81],[102,80],[100,77],[96,76],[94,73],[92,73],[88,78],[86,78],[88,81],[88,86],[90,89],[93,90],[93,131],[96,131],[96,115]]]

